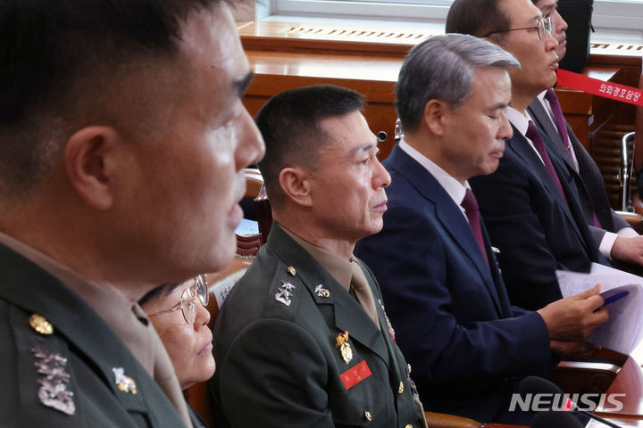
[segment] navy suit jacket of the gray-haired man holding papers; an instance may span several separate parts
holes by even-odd
[[[424,408],[527,424],[530,415],[507,410],[523,376],[553,368],[547,325],[510,306],[484,225],[490,268],[460,207],[427,169],[397,146],[384,165],[384,227],[355,253],[381,284]]]

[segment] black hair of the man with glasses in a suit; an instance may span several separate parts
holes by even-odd
[[[491,31],[509,29],[511,20],[500,4],[503,0],[455,0],[447,13],[445,32],[485,37]],[[504,33],[491,37],[500,45]]]

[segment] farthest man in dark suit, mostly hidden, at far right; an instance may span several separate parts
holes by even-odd
[[[562,60],[566,52],[567,23],[556,11],[558,0],[532,0],[543,17],[551,18],[552,36],[558,42],[555,53]],[[579,190],[580,204],[589,231],[606,258],[643,264],[643,236],[640,236],[610,206],[605,182],[596,162],[589,155],[572,127],[565,121],[560,103],[552,88],[541,92],[527,112],[545,133],[563,159]]]

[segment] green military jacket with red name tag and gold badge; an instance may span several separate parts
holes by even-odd
[[[272,226],[214,325],[216,426],[422,426],[380,289],[363,271],[381,331],[326,269]]]

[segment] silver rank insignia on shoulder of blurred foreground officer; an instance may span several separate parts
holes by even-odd
[[[38,373],[42,374],[38,379],[40,402],[67,415],[76,413],[73,392],[67,389],[71,377],[65,370],[67,358],[38,347],[32,348],[31,352],[37,358],[34,365],[38,368]]]

